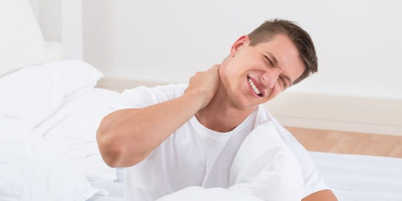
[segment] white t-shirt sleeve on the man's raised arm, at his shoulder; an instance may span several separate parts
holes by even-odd
[[[164,86],[138,86],[126,89],[114,104],[115,110],[127,108],[145,108],[155,104],[177,98],[184,94],[187,84],[169,84]]]

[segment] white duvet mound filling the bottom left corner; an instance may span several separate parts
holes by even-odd
[[[85,200],[98,192],[32,132],[0,128],[0,200]]]

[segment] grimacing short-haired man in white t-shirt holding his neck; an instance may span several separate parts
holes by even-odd
[[[317,72],[317,65],[307,32],[290,21],[266,21],[241,36],[222,64],[195,73],[188,86],[126,90],[129,109],[100,123],[100,153],[112,167],[130,167],[125,172],[128,199],[142,194],[152,200],[202,185],[230,138],[250,133],[253,123],[267,116],[260,105]],[[307,151],[292,136],[282,138],[302,169],[303,201],[337,200]],[[149,183],[141,184],[141,178]]]

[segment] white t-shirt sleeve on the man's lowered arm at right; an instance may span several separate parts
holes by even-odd
[[[303,198],[320,190],[330,189],[324,182],[323,177],[317,171],[309,152],[301,145],[290,133],[282,134],[282,140],[288,145],[292,152],[296,155],[300,169],[302,169],[305,189]]]

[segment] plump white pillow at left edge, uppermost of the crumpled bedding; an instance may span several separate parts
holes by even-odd
[[[94,87],[102,76],[74,60],[23,68],[0,78],[0,116],[7,124],[33,129],[59,108],[64,96]]]

